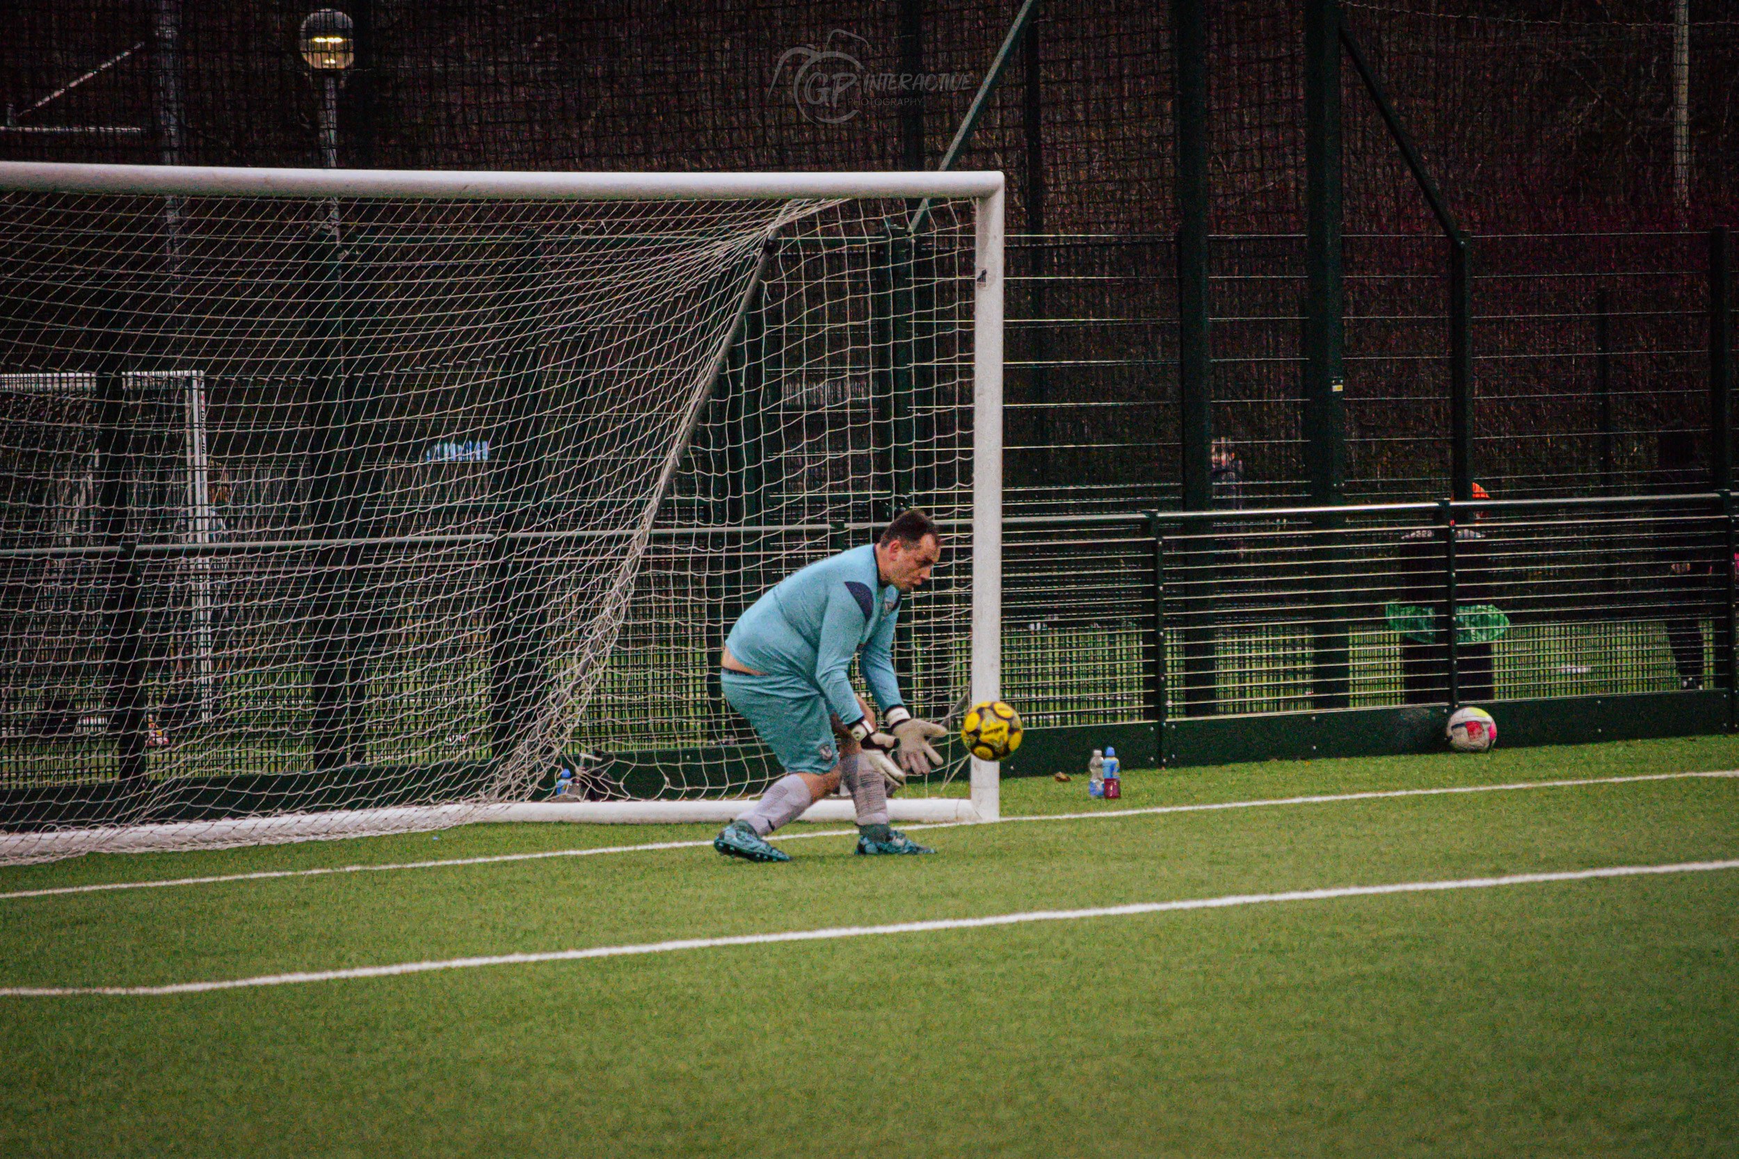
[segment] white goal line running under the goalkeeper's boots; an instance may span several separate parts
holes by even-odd
[[[1280,805],[1332,805],[1337,801],[1381,801],[1391,798],[1429,798],[1429,796],[1450,796],[1464,792],[1516,792],[1523,789],[1565,789],[1576,785],[1626,785],[1649,780],[1685,780],[1685,778],[1709,778],[1725,777],[1739,778],[1739,770],[1722,770],[1722,772],[1697,772],[1697,773],[1647,773],[1636,777],[1586,777],[1579,780],[1522,780],[1504,785],[1450,785],[1443,789],[1388,789],[1372,792],[1332,792],[1301,798],[1271,798],[1261,801],[1214,801],[1209,805],[1153,805],[1146,808],[1134,810],[1094,810],[1092,813],[1050,813],[1045,817],[1003,817],[1000,822],[993,824],[1026,824],[1026,822],[1045,822],[1045,820],[1097,820],[1103,817],[1148,817],[1158,813],[1210,813],[1219,810],[1247,810],[1247,808],[1271,808]],[[958,829],[962,825],[979,825],[984,822],[930,822],[923,825],[906,825],[906,829]],[[779,843],[784,841],[810,841],[814,838],[849,838],[856,836],[850,829],[824,829],[819,832],[793,832],[781,834]],[[456,865],[496,865],[501,862],[534,862],[548,857],[598,857],[603,853],[645,853],[654,850],[699,850],[711,846],[711,839],[704,841],[652,841],[645,844],[605,844],[590,850],[546,850],[543,853],[497,853],[492,857],[454,857],[443,860],[430,862],[390,862],[384,865],[332,865],[323,869],[270,869],[252,874],[223,874],[212,878],[169,878],[163,881],[108,881],[101,884],[89,886],[56,886],[49,890],[16,890],[12,893],[0,893],[0,902],[9,902],[14,898],[26,897],[59,897],[63,893],[101,893],[106,890],[163,890],[169,886],[197,886],[197,884],[223,884],[228,881],[273,881],[278,878],[323,878],[327,874],[370,874],[386,872],[396,869],[449,869]]]

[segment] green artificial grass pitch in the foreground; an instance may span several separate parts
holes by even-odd
[[[1739,768],[1727,738],[1010,782],[1014,815]],[[0,900],[0,985],[1739,857],[1739,778],[929,829]],[[802,832],[802,829],[798,829]],[[706,829],[473,827],[0,871],[0,893]],[[0,997],[7,1156],[1715,1156],[1739,871],[151,997]]]

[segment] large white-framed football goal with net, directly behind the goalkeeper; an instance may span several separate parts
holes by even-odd
[[[729,817],[725,632],[908,506],[996,693],[1000,174],[0,163],[0,860]]]

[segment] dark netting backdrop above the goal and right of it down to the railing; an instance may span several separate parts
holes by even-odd
[[[358,0],[336,162],[936,167],[1016,7]],[[1642,485],[1656,433],[1701,422],[1685,332],[1702,275],[1683,231],[1730,219],[1739,196],[1725,82],[1739,24],[1690,26],[1680,132],[1669,23],[1417,7],[1440,14],[1344,12],[1462,228],[1501,235],[1476,245],[1480,478],[1509,495]],[[1304,492],[1303,16],[1257,0],[1209,9],[1214,421],[1238,448],[1245,499],[1289,500]],[[21,0],[0,45],[0,156],[316,167],[322,85],[297,52],[308,10]],[[1016,509],[1176,502],[1170,54],[1163,3],[1042,5],[956,162],[1010,176]],[[1348,495],[1436,495],[1445,250],[1351,68],[1343,82]],[[1591,231],[1633,236],[1548,236]],[[1542,415],[1562,434],[1539,434]]]

